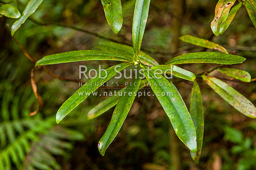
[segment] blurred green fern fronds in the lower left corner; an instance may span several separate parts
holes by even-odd
[[[52,116],[29,117],[34,94],[27,89],[23,93],[24,89],[20,88],[14,95],[13,88],[11,90],[7,89],[0,100],[0,169],[11,170],[15,165],[19,170],[60,170],[54,155],[65,155],[65,150],[73,147],[70,141],[82,140],[83,135],[64,125],[56,126]],[[24,97],[28,97],[25,103],[20,100]],[[22,109],[19,106],[23,106]]]

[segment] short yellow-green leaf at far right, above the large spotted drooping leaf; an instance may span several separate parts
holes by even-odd
[[[230,68],[218,69],[218,71],[229,77],[234,77],[237,80],[241,80],[242,82],[251,82],[251,75],[247,71]]]

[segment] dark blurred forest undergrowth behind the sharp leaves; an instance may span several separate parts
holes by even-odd
[[[13,0],[1,1],[15,5]],[[230,68],[244,69],[252,78],[256,77],[256,30],[244,6],[229,29],[223,35],[215,37],[210,29],[210,22],[214,17],[217,0],[184,0],[181,13],[177,12],[176,1],[152,0],[142,51],[159,63],[165,63],[182,53],[206,50],[181,41],[175,42],[175,36],[179,35],[180,29],[180,35],[190,34],[211,40],[223,45],[229,53],[234,52],[247,58],[245,63],[232,65]],[[16,2],[18,9],[23,11],[28,0]],[[131,44],[135,0],[121,2],[124,23],[118,35],[114,35],[109,28],[100,0],[44,0],[14,36],[37,59],[70,50],[95,49],[106,38]],[[28,137],[27,141],[32,149],[23,156],[25,161],[21,161],[20,167],[26,168],[31,164],[34,169],[48,170],[49,167],[54,170],[171,170],[176,169],[175,167],[181,170],[256,169],[256,120],[238,113],[202,81],[198,83],[202,89],[205,131],[199,164],[195,164],[189,151],[179,140],[175,140],[168,117],[154,96],[135,99],[121,131],[104,157],[98,152],[97,145],[114,108],[95,120],[87,120],[90,108],[104,98],[90,96],[60,125],[54,122],[58,108],[79,88],[77,82],[61,81],[43,69],[36,69],[34,78],[44,107],[40,113],[29,117],[28,113],[37,107],[30,84],[30,70],[34,65],[10,36],[7,24],[11,25],[13,22],[14,19],[0,18],[0,157],[6,156],[5,151],[19,143],[17,140],[20,137],[30,132],[34,126],[39,126],[38,122],[48,122],[47,128],[33,132],[36,138]],[[180,28],[177,28],[177,22],[181,23]],[[100,63],[93,61],[58,64],[47,66],[47,69],[58,76],[78,79],[81,64],[98,68]],[[101,62],[105,67],[114,64],[115,62]],[[215,66],[181,65],[195,74]],[[217,71],[212,74],[216,77],[220,75]],[[256,82],[235,82],[228,78],[226,82],[256,104]],[[175,80],[174,83],[188,106],[193,84]],[[23,120],[29,122],[23,124]],[[20,125],[17,122],[21,122]],[[56,128],[63,128],[63,131]],[[51,139],[56,139],[54,144],[45,139],[49,137],[49,133]],[[60,137],[59,134],[66,136]],[[38,144],[40,141],[44,141],[46,146],[52,146],[44,147],[44,151],[49,152],[51,158],[33,157],[33,147],[37,148],[35,145],[45,146]],[[14,156],[10,155],[12,160],[15,159],[15,153]],[[41,152],[38,155],[42,155]],[[49,160],[53,161],[52,164]],[[12,166],[15,169],[14,163]]]

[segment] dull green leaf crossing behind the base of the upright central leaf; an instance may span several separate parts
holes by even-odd
[[[134,50],[128,45],[118,44],[110,41],[102,41],[97,45],[97,48],[99,48],[100,50],[107,50],[115,52],[116,54],[127,56],[132,60],[134,59]],[[159,63],[157,63],[154,58],[148,56],[148,54],[142,51],[140,51],[138,57],[141,63],[144,63],[150,67],[159,65]]]

